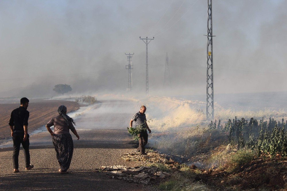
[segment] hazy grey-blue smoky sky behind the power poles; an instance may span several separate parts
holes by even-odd
[[[215,93],[286,90],[286,3],[213,0]],[[166,52],[173,93],[206,93],[207,0],[9,0],[0,1],[0,18],[0,97],[47,95],[58,83],[125,91],[129,52],[134,92],[144,94],[139,36],[155,37],[150,95],[161,92]]]

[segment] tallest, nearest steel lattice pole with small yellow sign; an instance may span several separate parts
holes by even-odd
[[[207,0],[207,79],[206,79],[206,120],[214,119],[213,100],[213,48],[212,48],[212,0]]]

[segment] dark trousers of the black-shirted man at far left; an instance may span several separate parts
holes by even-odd
[[[19,157],[19,151],[20,151],[20,146],[22,144],[22,147],[24,149],[24,157],[25,157],[25,162],[26,162],[26,167],[30,166],[30,153],[29,153],[29,135],[26,141],[23,141],[24,135],[15,135],[13,136],[13,165],[15,169],[19,168],[19,162],[18,162],[18,157]]]

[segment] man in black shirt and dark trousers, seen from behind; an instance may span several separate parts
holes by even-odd
[[[9,121],[11,136],[13,138],[13,172],[19,172],[19,151],[20,146],[24,149],[24,157],[26,162],[26,170],[32,169],[34,166],[30,165],[30,152],[29,152],[29,134],[28,134],[28,118],[29,112],[27,111],[29,100],[22,98],[20,100],[21,106],[11,112],[11,118]]]

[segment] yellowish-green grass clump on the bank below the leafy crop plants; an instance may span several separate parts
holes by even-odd
[[[254,158],[254,152],[250,149],[241,149],[232,154],[229,158],[230,159],[227,161],[227,171],[232,173],[240,169],[243,165],[251,162],[251,160]]]

